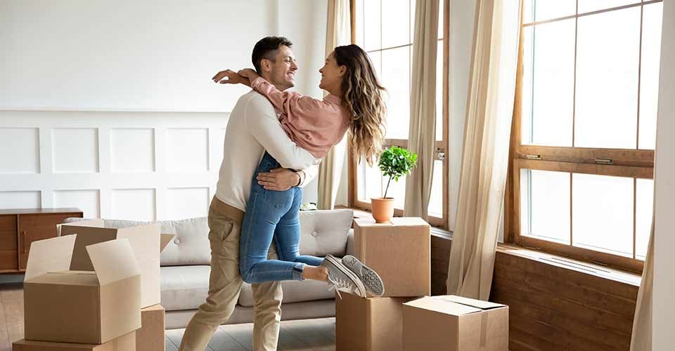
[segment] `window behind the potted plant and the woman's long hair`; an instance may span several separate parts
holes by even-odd
[[[447,222],[447,171],[444,161],[447,135],[447,106],[443,100],[447,91],[444,77],[447,50],[444,48],[444,13],[448,7],[439,5],[439,31],[436,81],[436,147],[432,195],[429,204],[430,223],[446,227]],[[411,67],[413,60],[413,37],[415,35],[415,0],[356,0],[352,11],[352,28],[356,29],[356,44],[368,52],[378,78],[387,88],[387,135],[386,147],[408,147],[410,126]],[[369,167],[365,161],[352,161],[350,205],[370,209],[371,197],[381,197],[388,178],[383,178],[377,165]],[[396,215],[401,216],[405,202],[406,179],[392,181],[387,196],[394,197]]]

